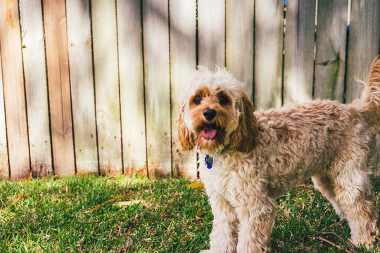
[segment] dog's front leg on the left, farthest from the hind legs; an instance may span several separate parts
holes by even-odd
[[[210,233],[210,253],[235,253],[238,220],[233,207],[227,200],[214,193],[210,196],[210,205],[214,214],[213,231]]]

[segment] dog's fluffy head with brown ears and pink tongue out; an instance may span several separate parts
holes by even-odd
[[[258,122],[253,103],[227,70],[200,67],[184,88],[180,106],[178,137],[183,150],[197,146],[215,153],[228,146],[248,153],[255,148]]]

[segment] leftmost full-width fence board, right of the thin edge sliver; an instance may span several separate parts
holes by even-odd
[[[29,176],[27,117],[18,1],[0,1],[0,48],[11,179]]]

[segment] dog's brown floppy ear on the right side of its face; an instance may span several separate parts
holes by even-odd
[[[243,153],[249,153],[256,146],[258,121],[253,115],[253,103],[246,93],[243,93],[237,106],[241,115],[239,116],[239,125],[231,134],[230,147]]]

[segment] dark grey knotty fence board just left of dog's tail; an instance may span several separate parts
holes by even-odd
[[[319,0],[314,97],[343,102],[348,0]]]

